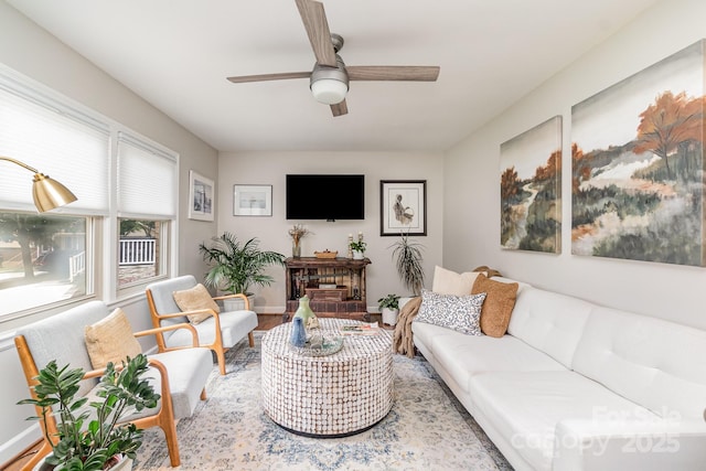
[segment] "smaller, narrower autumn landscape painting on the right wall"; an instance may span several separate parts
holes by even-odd
[[[561,251],[561,117],[500,144],[500,246]]]

